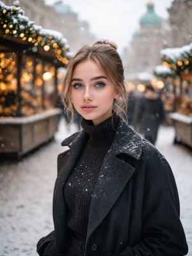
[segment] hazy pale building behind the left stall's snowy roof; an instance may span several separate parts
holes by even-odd
[[[36,25],[60,31],[68,40],[72,52],[95,40],[88,22],[79,20],[78,14],[63,1],[56,1],[52,6],[46,6],[44,0],[4,0],[4,4],[20,6],[29,20],[35,21]]]

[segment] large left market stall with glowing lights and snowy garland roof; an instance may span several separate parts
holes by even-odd
[[[61,33],[42,29],[0,3],[0,157],[18,158],[58,128],[60,68],[70,58]]]

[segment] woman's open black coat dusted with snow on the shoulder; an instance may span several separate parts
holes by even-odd
[[[54,231],[38,242],[39,255],[65,255],[67,251],[70,234],[63,186],[81,154],[85,137],[84,131],[77,132],[62,143],[69,149],[58,156]],[[175,256],[187,252],[169,164],[121,120],[95,186],[85,253]]]

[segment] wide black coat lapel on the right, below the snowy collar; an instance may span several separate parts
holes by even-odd
[[[90,205],[88,236],[113,207],[133,172],[134,168],[118,157],[106,156]]]

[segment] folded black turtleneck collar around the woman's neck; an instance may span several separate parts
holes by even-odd
[[[82,119],[81,126],[89,135],[88,143],[95,147],[102,145],[110,145],[115,135],[115,129],[120,118],[118,115],[113,115],[106,119],[101,124],[94,126],[91,120]]]

